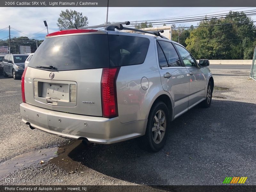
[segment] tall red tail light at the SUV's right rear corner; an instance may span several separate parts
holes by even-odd
[[[116,97],[116,78],[119,68],[103,68],[101,77],[102,116],[118,116]]]

